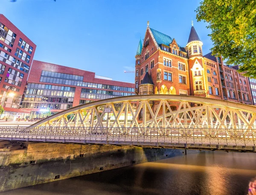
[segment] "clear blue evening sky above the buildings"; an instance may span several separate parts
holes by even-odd
[[[194,27],[207,54],[206,23],[197,23],[200,0],[0,0],[4,14],[36,45],[34,59],[134,82],[137,46],[147,27],[186,46]]]

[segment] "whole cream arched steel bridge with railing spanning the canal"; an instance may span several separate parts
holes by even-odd
[[[134,95],[58,112],[0,140],[255,151],[256,107],[186,95]]]

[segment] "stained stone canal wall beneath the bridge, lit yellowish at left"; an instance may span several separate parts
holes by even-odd
[[[195,150],[63,143],[0,144],[0,192],[157,161]],[[3,147],[5,146],[5,147]]]

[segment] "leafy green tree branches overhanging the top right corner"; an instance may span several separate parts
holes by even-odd
[[[256,77],[256,0],[203,0],[196,13],[212,30],[212,54]]]

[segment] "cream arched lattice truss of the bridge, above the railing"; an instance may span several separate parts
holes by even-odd
[[[137,95],[76,106],[33,126],[256,129],[256,107],[206,97]]]

